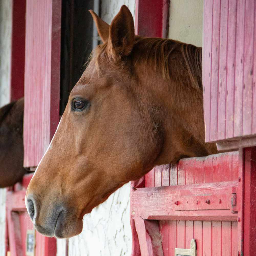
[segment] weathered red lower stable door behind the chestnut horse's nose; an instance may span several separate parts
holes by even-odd
[[[26,232],[27,229],[34,229],[33,223],[28,218],[25,206],[25,195],[27,185],[33,174],[24,176],[21,190],[8,191],[6,196],[6,216],[8,227],[8,250],[11,255],[26,255]],[[42,236],[36,232],[36,256],[52,256],[56,255],[57,246],[56,238]]]

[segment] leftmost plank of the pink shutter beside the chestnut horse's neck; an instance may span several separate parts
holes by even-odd
[[[211,117],[211,62],[213,0],[204,1],[204,33],[202,51],[202,83],[204,89],[205,141],[210,141]]]

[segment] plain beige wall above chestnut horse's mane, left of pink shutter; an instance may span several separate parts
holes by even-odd
[[[202,46],[203,0],[171,0],[169,38]]]

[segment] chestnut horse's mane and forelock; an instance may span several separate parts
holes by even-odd
[[[111,54],[108,50],[108,42],[99,45],[94,49],[88,62],[95,58],[95,65],[98,71],[99,58],[103,56],[108,64],[113,63]],[[170,60],[174,54],[181,53],[180,60],[183,68],[187,71],[187,76],[190,79],[191,85],[195,88],[202,88],[202,48],[191,44],[186,44],[180,41],[164,38],[141,37],[136,36],[133,50],[131,52],[132,62],[136,65],[151,65],[155,71],[162,73],[162,77],[170,79]],[[119,60],[115,60],[115,64]]]

